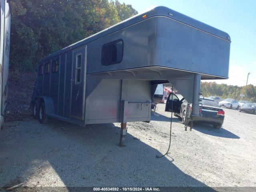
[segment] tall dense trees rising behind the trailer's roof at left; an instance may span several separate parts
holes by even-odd
[[[38,60],[137,14],[108,0],[15,0],[10,68],[34,70]]]

